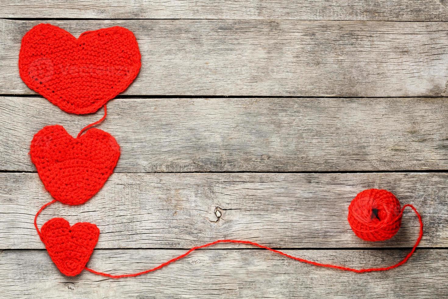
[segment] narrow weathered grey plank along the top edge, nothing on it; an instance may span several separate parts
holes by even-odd
[[[438,0],[3,0],[0,17],[447,21]]]

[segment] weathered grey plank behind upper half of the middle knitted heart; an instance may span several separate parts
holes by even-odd
[[[35,171],[33,135],[76,136],[101,117],[43,98],[0,97],[0,169]],[[412,99],[116,99],[98,127],[116,137],[116,172],[448,169],[448,101]]]

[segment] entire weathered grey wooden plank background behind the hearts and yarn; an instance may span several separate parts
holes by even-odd
[[[1,0],[0,18],[0,297],[448,297],[447,1]],[[357,238],[347,207],[372,187],[422,213],[418,251],[356,274],[233,244],[136,278],[63,276],[32,224],[50,196],[29,145],[43,126],[76,135],[103,112],[63,113],[19,78],[21,38],[41,22],[75,36],[125,26],[142,52],[99,126],[121,146],[115,173],[86,204],[38,221],[98,225],[90,268],[141,271],[218,238],[394,264],[418,223],[406,212],[391,240]]]

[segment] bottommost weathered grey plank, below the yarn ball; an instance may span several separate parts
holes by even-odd
[[[148,269],[181,250],[95,250],[88,266],[108,273]],[[406,250],[288,250],[354,267],[389,265]],[[388,272],[347,273],[287,260],[262,250],[201,250],[145,276],[107,279],[89,272],[65,277],[45,251],[3,251],[4,298],[446,298],[447,250],[418,250]],[[356,283],[353,283],[356,282]]]

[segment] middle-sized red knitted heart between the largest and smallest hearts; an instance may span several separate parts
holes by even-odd
[[[120,157],[120,147],[102,130],[89,129],[73,138],[55,125],[34,135],[30,156],[50,194],[61,203],[76,205],[101,189]]]

